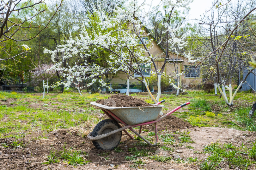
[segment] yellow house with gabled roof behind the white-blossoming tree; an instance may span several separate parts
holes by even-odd
[[[145,28],[146,29],[146,28]],[[149,33],[149,30],[146,29],[146,31]],[[161,69],[162,65],[164,64],[164,58],[165,58],[165,50],[164,48],[159,45],[159,43],[156,41],[155,37],[150,35],[150,37],[143,37],[143,41],[148,41],[149,38],[152,38],[153,41],[150,43],[152,44],[152,48],[149,49],[149,52],[153,56],[159,56],[159,58],[162,59],[156,59],[155,64],[157,69]],[[138,46],[142,45],[141,42],[138,43]],[[145,55],[148,55],[145,53]],[[154,70],[153,64],[151,66],[151,69]],[[182,88],[186,88],[191,85],[198,85],[202,82],[202,78],[200,75],[200,65],[198,67],[195,67],[193,63],[189,63],[188,60],[178,55],[174,52],[168,52],[168,62],[166,63],[164,72],[166,75],[174,76],[177,73],[182,73],[185,71],[184,75],[180,76],[179,84]],[[141,77],[139,75],[134,74],[135,77]],[[153,75],[150,74],[150,71],[144,73],[145,77],[151,77]],[[175,76],[174,79],[177,83],[177,77]],[[113,75],[111,79],[112,88],[113,91],[117,91],[120,93],[125,93],[127,91],[127,75],[123,72],[119,72],[115,75]],[[150,86],[150,85],[149,85]],[[151,85],[151,91],[157,90],[156,85]],[[169,88],[165,89],[165,91],[172,91],[173,87],[170,85]],[[143,83],[136,79],[130,79],[130,89],[129,92],[142,92],[143,91]]]

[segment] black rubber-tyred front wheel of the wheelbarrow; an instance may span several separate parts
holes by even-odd
[[[119,129],[119,124],[114,120],[106,119],[102,120],[94,127],[91,135],[96,137],[101,134],[107,134],[116,129]],[[121,137],[122,131],[119,131],[115,134],[92,142],[97,149],[112,150],[119,144]]]

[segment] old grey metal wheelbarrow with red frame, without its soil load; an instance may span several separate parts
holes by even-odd
[[[122,137],[122,130],[131,138],[133,137],[125,130],[130,129],[133,133],[139,136],[150,146],[155,146],[158,141],[157,126],[156,123],[166,118],[176,110],[183,106],[190,104],[186,102],[179,107],[175,108],[171,112],[158,118],[163,105],[160,105],[165,100],[162,100],[156,104],[151,104],[150,107],[109,107],[96,102],[91,102],[92,105],[100,107],[101,110],[110,118],[102,120],[93,129],[91,133],[87,135],[89,140],[92,140],[93,145],[97,149],[112,150],[120,142]],[[124,124],[121,126],[119,123]],[[151,144],[141,135],[142,126],[146,124],[154,123],[155,125],[155,143]],[[139,132],[132,129],[132,127],[140,126]]]

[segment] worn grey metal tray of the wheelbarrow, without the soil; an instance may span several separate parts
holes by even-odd
[[[96,102],[91,102],[91,104],[100,107],[103,110],[111,111],[127,125],[135,125],[156,120],[162,107],[164,107],[163,105],[156,104],[151,104],[152,106],[150,107],[109,107]],[[114,119],[119,122],[116,118]]]

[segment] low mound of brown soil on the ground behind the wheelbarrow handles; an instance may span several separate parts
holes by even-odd
[[[160,117],[160,116],[159,116]],[[192,125],[189,124],[186,121],[183,121],[180,118],[177,118],[174,115],[169,115],[167,118],[164,118],[163,120],[159,121],[157,124],[158,130],[165,130],[165,129],[189,129],[192,128]],[[149,124],[148,127],[150,130],[154,130],[154,124]]]

